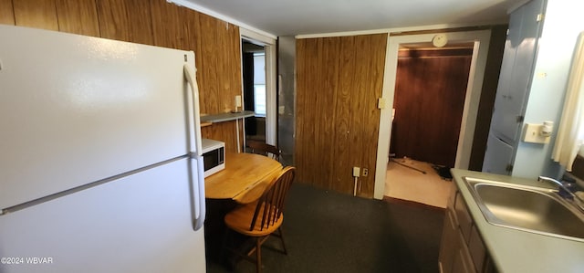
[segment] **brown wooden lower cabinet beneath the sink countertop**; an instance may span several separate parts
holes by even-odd
[[[442,273],[497,272],[454,184],[444,217],[438,261]]]

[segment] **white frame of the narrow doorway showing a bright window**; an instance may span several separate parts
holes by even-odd
[[[276,112],[276,68],[277,68],[277,56],[276,56],[276,38],[267,37],[253,30],[246,29],[244,27],[239,28],[240,35],[240,52],[241,52],[241,40],[245,39],[251,43],[258,46],[264,47],[266,51],[266,143],[277,146],[277,112]],[[243,65],[243,63],[242,63]],[[243,69],[242,69],[242,86],[244,81]],[[244,90],[242,89],[242,98]],[[245,138],[244,138],[245,142]],[[244,143],[245,144],[245,143]]]

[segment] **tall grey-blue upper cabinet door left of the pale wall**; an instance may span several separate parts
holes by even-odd
[[[505,142],[517,142],[541,33],[544,0],[533,0],[511,14],[491,131]]]

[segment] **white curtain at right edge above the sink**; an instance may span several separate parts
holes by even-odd
[[[552,153],[553,160],[571,172],[582,142],[584,142],[584,31],[580,33],[576,44],[568,78],[566,101]]]

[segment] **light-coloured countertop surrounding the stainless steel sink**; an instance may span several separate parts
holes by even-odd
[[[549,272],[584,272],[584,242],[573,241],[553,236],[519,231],[503,226],[494,226],[486,222],[480,208],[474,202],[463,177],[489,179],[514,184],[544,186],[535,180],[516,178],[492,173],[479,173],[453,169],[454,183],[468,206],[474,225],[483,237],[499,272],[504,273],[549,273]],[[549,186],[551,188],[551,186]]]

